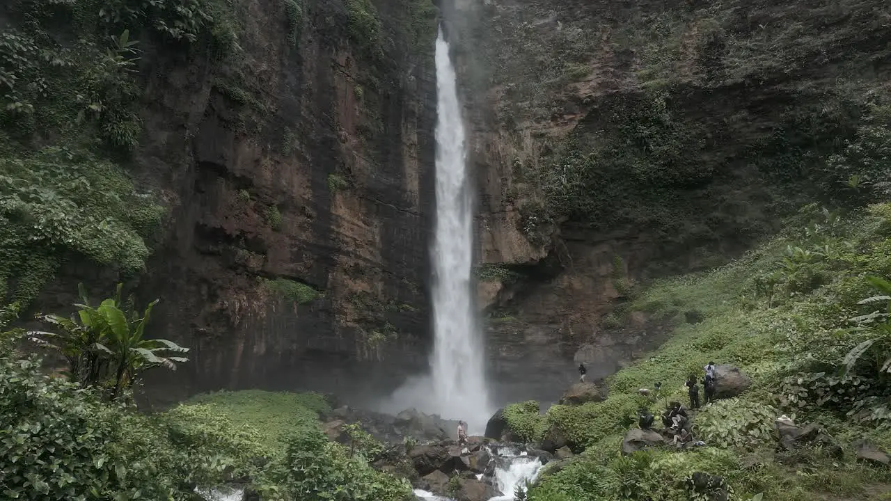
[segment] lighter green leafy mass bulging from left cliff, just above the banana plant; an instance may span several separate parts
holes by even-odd
[[[29,303],[66,252],[128,273],[144,267],[144,238],[159,228],[164,209],[117,166],[49,147],[0,156],[0,172],[0,300],[15,275],[13,298]]]

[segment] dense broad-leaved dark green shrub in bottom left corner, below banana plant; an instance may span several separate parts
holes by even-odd
[[[124,407],[0,357],[0,472],[5,498],[168,499],[186,464],[163,434]]]

